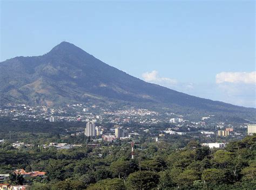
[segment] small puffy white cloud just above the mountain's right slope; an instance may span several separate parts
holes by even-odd
[[[163,86],[172,86],[178,83],[175,79],[159,77],[157,71],[143,73],[142,77],[146,82],[157,83]]]

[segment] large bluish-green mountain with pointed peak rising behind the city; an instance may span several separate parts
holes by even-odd
[[[134,78],[62,42],[38,57],[16,57],[0,63],[0,103],[62,105],[102,104],[165,108],[186,114],[224,113],[255,119],[256,109],[187,95]]]

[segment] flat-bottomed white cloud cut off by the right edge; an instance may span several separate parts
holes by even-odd
[[[256,83],[256,71],[246,72],[221,72],[216,75],[216,83],[232,82],[232,83]]]

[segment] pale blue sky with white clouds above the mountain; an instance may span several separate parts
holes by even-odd
[[[68,41],[144,81],[256,108],[254,1],[0,2],[0,61]]]

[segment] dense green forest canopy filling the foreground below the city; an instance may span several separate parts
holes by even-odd
[[[44,171],[46,178],[21,180],[31,189],[255,189],[256,135],[229,143],[225,149],[209,149],[197,141],[182,149],[172,143],[109,144],[95,149],[76,147],[57,150],[40,145],[14,149],[0,144],[0,173],[17,168]]]

